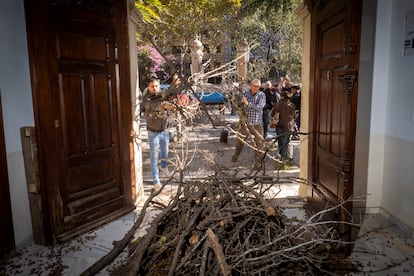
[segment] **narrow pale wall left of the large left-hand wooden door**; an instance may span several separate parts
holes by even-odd
[[[0,93],[16,245],[31,241],[20,128],[34,125],[23,0],[0,1]]]

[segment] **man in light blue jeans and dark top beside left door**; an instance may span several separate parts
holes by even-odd
[[[170,134],[168,131],[168,111],[174,108],[173,104],[165,101],[160,93],[159,80],[151,79],[142,100],[142,111],[146,117],[150,143],[150,163],[154,191],[161,187],[160,171],[164,176],[169,175],[168,147]],[[160,168],[158,167],[158,157],[161,159]]]

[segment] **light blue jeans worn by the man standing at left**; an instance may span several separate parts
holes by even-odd
[[[148,130],[148,140],[150,143],[150,164],[152,179],[154,184],[160,183],[160,170],[158,168],[158,156],[161,158],[161,167],[168,166],[168,146],[170,143],[170,133],[168,130],[153,132]]]

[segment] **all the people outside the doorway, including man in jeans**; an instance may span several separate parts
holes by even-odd
[[[179,79],[174,75],[172,85],[178,85]],[[239,128],[232,162],[236,162],[247,138],[253,136],[254,169],[261,169],[265,141],[269,139],[272,128],[276,132],[279,155],[282,161],[288,158],[290,139],[297,139],[300,128],[300,86],[283,77],[277,85],[271,81],[261,82],[253,79],[248,87],[241,87],[240,92],[231,99],[232,105],[239,112]],[[148,140],[150,145],[150,164],[154,190],[160,188],[160,172],[169,174],[168,118],[177,103],[172,103],[160,95],[160,82],[151,79],[144,90],[141,109],[147,121]],[[179,103],[179,102],[178,102]],[[185,103],[180,103],[185,104]],[[160,162],[159,162],[160,159]]]

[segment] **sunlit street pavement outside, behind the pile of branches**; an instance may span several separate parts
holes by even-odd
[[[269,139],[266,142],[267,156],[262,163],[261,170],[253,170],[254,150],[245,145],[237,162],[232,162],[237,129],[238,116],[222,114],[218,109],[210,108],[208,116],[201,116],[181,128],[182,133],[177,133],[176,128],[171,128],[174,140],[170,143],[169,170],[183,172],[184,179],[203,178],[215,173],[215,169],[221,168],[226,172],[232,171],[235,177],[246,175],[279,176],[295,178],[299,176],[299,168],[296,164],[283,167],[277,158],[277,144],[272,137],[276,136],[271,129]],[[147,139],[145,120],[141,121],[143,141],[143,180],[144,187],[151,186],[152,176],[149,164],[149,143]],[[226,137],[227,136],[227,137]],[[227,139],[224,139],[227,138]],[[248,142],[252,142],[248,139]],[[298,144],[296,141],[292,143]],[[296,153],[297,154],[297,153]]]

